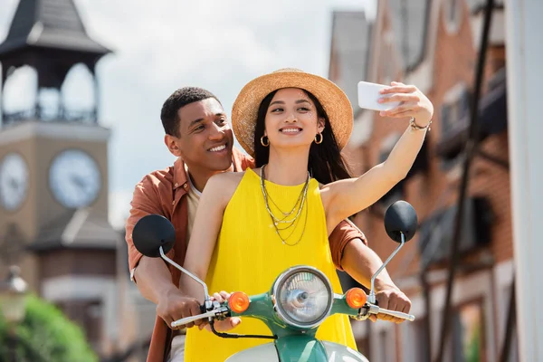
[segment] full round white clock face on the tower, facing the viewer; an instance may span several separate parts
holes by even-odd
[[[68,208],[90,205],[100,192],[100,168],[80,149],[67,149],[52,160],[49,186],[56,200]]]

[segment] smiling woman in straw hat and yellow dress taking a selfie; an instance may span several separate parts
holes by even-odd
[[[255,157],[255,169],[213,176],[205,186],[186,252],[185,267],[210,291],[262,293],[285,269],[307,264],[341,287],[328,236],[351,214],[374,204],[405,177],[433,115],[432,103],[414,86],[393,83],[381,102],[401,101],[382,112],[411,118],[386,161],[357,178],[348,175],[340,150],[353,127],[351,105],[331,81],[285,69],[249,82],[233,104],[233,131]],[[319,184],[319,181],[320,184]],[[338,180],[338,181],[336,181]],[[181,288],[203,300],[186,275]],[[215,295],[220,299],[220,296]],[[240,324],[239,319],[233,325]],[[240,334],[270,334],[256,319],[243,319]],[[331,316],[317,337],[356,348],[346,316]],[[186,361],[224,361],[266,339],[224,339],[188,329]]]

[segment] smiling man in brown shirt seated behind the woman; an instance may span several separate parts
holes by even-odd
[[[160,258],[144,257],[135,249],[132,242],[134,225],[146,214],[167,217],[176,229],[176,244],[167,256],[183,264],[199,195],[209,177],[253,167],[252,158],[233,148],[233,132],[223,106],[209,91],[195,87],[176,90],[164,103],[160,118],[166,132],[166,146],[177,160],[173,167],[152,172],[138,183],[126,224],[132,280],[146,299],[157,304],[157,319],[148,354],[148,361],[153,362],[167,361],[173,357],[170,355],[176,354],[175,351],[170,354],[170,349],[172,339],[179,332],[168,326],[173,320],[199,314],[199,303],[179,291],[180,271]],[[329,236],[329,244],[337,268],[368,286],[371,275],[382,262],[367,247],[364,234],[343,222]],[[376,291],[376,299],[383,308],[407,312],[411,307],[411,302],[386,271],[376,281]],[[401,322],[401,319],[386,316],[383,319]],[[196,321],[186,327],[201,323]]]

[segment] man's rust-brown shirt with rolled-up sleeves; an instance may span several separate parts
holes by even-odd
[[[233,164],[238,171],[254,167],[252,158],[235,148],[233,148]],[[174,262],[183,265],[186,244],[188,243],[186,240],[188,224],[186,194],[189,187],[185,165],[181,159],[177,159],[173,167],[148,174],[136,185],[126,224],[130,271],[138,265],[142,256],[132,242],[132,230],[138,220],[147,214],[161,214],[174,225],[176,243],[173,249],[167,252],[167,256]],[[338,227],[330,234],[330,252],[332,260],[339,270],[341,270],[341,255],[345,246],[356,238],[367,243],[364,234],[345,221],[338,224]],[[181,271],[170,264],[167,264],[167,267],[172,274],[172,282],[178,287]],[[157,316],[149,347],[148,362],[166,361],[171,339],[172,330],[168,328],[163,319]]]

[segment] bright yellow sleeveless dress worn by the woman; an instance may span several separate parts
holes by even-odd
[[[281,186],[264,182],[271,200],[285,212],[291,211],[304,186]],[[273,214],[279,216],[277,209],[273,208],[275,206],[271,202],[269,204]],[[248,168],[224,210],[223,224],[206,279],[209,292],[244,291],[247,295],[260,294],[270,290],[272,282],[282,271],[293,265],[304,264],[324,272],[334,291],[342,293],[329,251],[326,216],[320,199],[319,183],[315,179],[310,179],[307,203],[298,222],[300,225],[292,227],[295,230],[286,242],[300,242],[292,246],[283,244],[266,210],[261,178]],[[286,238],[289,233],[291,231],[284,231],[281,235]],[[262,321],[249,317],[242,318],[242,323],[230,332],[271,335],[270,329]],[[319,326],[317,338],[357,350],[347,316],[334,315],[326,319]],[[270,342],[270,339],[219,338],[208,330],[187,329],[185,360],[223,362],[238,351]]]

